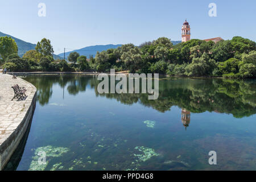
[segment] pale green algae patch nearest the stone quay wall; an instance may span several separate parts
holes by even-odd
[[[51,158],[58,158],[68,151],[69,151],[69,149],[64,148],[64,147],[52,147],[52,146],[38,147],[35,150],[35,155],[32,157],[33,160],[31,162],[30,168],[28,170],[29,171],[44,171],[44,169],[47,167]],[[41,157],[42,152],[46,153],[46,163],[38,162],[39,158]],[[53,165],[52,169],[57,168],[55,165]]]

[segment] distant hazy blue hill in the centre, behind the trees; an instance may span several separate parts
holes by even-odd
[[[97,51],[98,52],[106,51],[108,49],[111,49],[111,48],[115,49],[120,46],[122,46],[122,44],[118,44],[118,45],[108,44],[108,45],[97,45],[97,46],[84,47],[84,48],[77,49],[74,51],[65,52],[65,58],[67,59],[67,57],[69,56],[69,54],[71,52],[78,52],[80,54],[80,56],[86,56],[88,58],[90,55],[93,55],[93,57],[95,57]],[[58,56],[64,57],[64,53],[60,53]]]

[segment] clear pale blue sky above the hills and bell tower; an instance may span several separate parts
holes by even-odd
[[[39,3],[46,4],[46,17],[38,16]],[[209,3],[216,3],[217,17],[208,15]],[[30,43],[45,37],[61,53],[64,47],[139,45],[162,36],[181,40],[187,18],[192,39],[256,41],[255,7],[255,0],[1,0],[0,31]]]

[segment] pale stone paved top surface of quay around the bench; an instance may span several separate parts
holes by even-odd
[[[25,87],[27,98],[17,101],[11,86],[18,84]],[[21,78],[14,79],[13,76],[0,73],[0,146],[16,130],[25,117],[35,95],[34,85]]]

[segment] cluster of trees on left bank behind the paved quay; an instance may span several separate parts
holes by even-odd
[[[44,38],[36,44],[34,50],[18,56],[18,46],[10,37],[0,38],[0,65],[12,72],[30,71],[75,71],[65,60],[53,59],[51,41]]]

